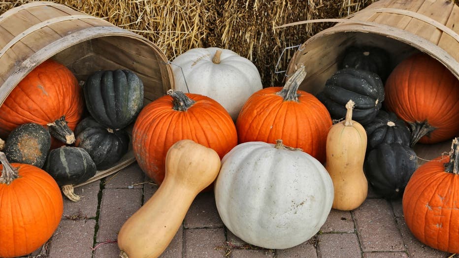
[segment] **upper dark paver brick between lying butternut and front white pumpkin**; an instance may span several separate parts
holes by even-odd
[[[185,228],[222,227],[213,192],[200,193],[184,219]]]

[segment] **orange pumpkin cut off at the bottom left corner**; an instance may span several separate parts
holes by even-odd
[[[8,163],[0,152],[0,257],[19,257],[46,243],[63,214],[61,190],[44,170]]]

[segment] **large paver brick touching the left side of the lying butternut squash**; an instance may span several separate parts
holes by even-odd
[[[97,242],[116,240],[121,226],[141,206],[142,189],[104,189],[100,202]]]

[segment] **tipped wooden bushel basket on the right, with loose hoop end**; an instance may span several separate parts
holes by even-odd
[[[416,52],[425,52],[459,79],[459,7],[451,1],[379,0],[345,19],[303,21],[277,28],[317,22],[338,23],[310,37],[291,59],[287,76],[300,65],[306,67],[300,90],[321,92],[351,45],[385,49],[391,55],[392,68]],[[450,148],[451,141],[446,141],[416,144],[414,149],[421,164]]]

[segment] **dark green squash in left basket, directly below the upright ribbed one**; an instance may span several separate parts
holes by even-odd
[[[98,170],[115,164],[129,149],[129,135],[126,130],[103,127],[91,117],[78,124],[75,135],[75,146],[88,152]]]

